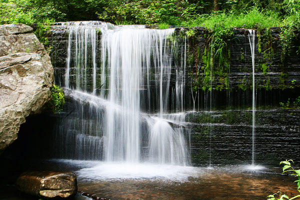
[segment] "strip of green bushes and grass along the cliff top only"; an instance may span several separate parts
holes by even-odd
[[[299,0],[0,0],[0,23],[30,25],[51,18],[213,29],[221,21],[223,26],[254,28],[298,22],[299,7]]]

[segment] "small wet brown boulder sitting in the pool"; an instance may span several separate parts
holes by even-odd
[[[17,178],[16,184],[20,191],[43,198],[67,198],[77,192],[77,179],[73,172],[24,172]]]

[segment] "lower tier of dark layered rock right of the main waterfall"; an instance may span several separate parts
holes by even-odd
[[[274,165],[300,161],[300,110],[256,111],[255,163]],[[252,110],[192,112],[191,160],[196,165],[249,164],[252,159]],[[210,137],[211,134],[211,137]]]

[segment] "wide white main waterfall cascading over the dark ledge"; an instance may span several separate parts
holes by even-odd
[[[58,156],[188,165],[184,114],[173,117],[183,111],[186,38],[179,46],[172,28],[65,25],[64,84],[72,90],[76,113],[58,125]]]

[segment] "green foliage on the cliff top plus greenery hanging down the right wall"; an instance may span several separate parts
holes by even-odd
[[[266,74],[272,66],[272,34],[268,27],[280,26],[282,65],[290,52],[300,52],[298,41],[300,29],[300,0],[219,0],[220,10],[214,11],[212,0],[0,0],[0,24],[36,24],[35,34],[51,50],[47,32],[54,21],[103,20],[115,24],[158,24],[159,28],[169,25],[185,27],[203,26],[208,32],[206,51],[190,53],[189,63],[201,64],[197,69],[193,88],[211,89],[210,81],[218,90],[227,89],[230,65],[230,49],[233,27],[257,29],[258,52],[265,63],[261,71]],[[196,30],[185,31],[193,38]],[[189,42],[193,42],[190,39]],[[244,60],[241,53],[240,60]],[[202,71],[200,71],[202,70]],[[203,74],[203,75],[202,75]],[[286,86],[286,73],[280,74],[280,87]],[[269,80],[266,88],[270,88]],[[292,85],[293,86],[293,85]],[[239,88],[246,89],[241,82]],[[248,87],[249,88],[249,87]],[[194,89],[196,90],[196,89]]]

